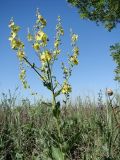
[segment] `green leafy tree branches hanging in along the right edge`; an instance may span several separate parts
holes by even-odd
[[[78,9],[80,17],[103,24],[111,31],[120,23],[120,0],[67,0]],[[110,47],[111,56],[116,62],[115,80],[120,82],[120,43]]]

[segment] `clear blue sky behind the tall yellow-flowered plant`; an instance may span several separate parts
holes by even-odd
[[[35,12],[39,8],[41,14],[47,20],[46,32],[50,39],[50,48],[53,46],[53,36],[57,16],[62,18],[65,36],[62,39],[62,55],[70,52],[69,30],[73,29],[79,35],[78,46],[80,48],[79,66],[74,68],[70,82],[73,86],[72,97],[87,93],[96,94],[100,89],[110,87],[116,89],[114,79],[115,64],[110,56],[109,46],[120,41],[120,29],[118,27],[108,32],[103,26],[96,26],[94,22],[81,20],[76,8],[71,7],[66,0],[1,0],[0,4],[0,92],[8,89],[14,90],[16,86],[25,96],[30,96],[29,91],[22,89],[19,81],[19,61],[11,50],[8,37],[9,20],[14,17],[15,22],[21,26],[20,37],[25,42],[25,50],[31,61],[35,60],[35,53],[26,41],[27,27],[32,28],[35,22]],[[60,58],[60,60],[61,60]],[[64,59],[64,58],[63,58]],[[57,77],[61,81],[58,65],[55,64]],[[33,91],[39,95],[49,97],[48,91],[33,71],[28,69],[28,82]]]

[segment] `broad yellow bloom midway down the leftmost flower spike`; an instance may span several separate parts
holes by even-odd
[[[11,48],[15,50],[19,48],[24,48],[24,44],[20,40],[13,39],[11,40]]]

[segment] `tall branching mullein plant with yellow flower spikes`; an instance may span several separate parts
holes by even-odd
[[[78,55],[79,48],[76,45],[78,40],[78,35],[71,32],[71,45],[72,45],[72,53],[68,55],[68,64],[65,65],[62,63],[63,70],[63,82],[59,82],[56,79],[56,76],[53,72],[54,62],[58,60],[59,54],[61,53],[60,45],[61,45],[61,36],[64,35],[64,30],[61,24],[61,18],[58,17],[57,25],[56,25],[56,35],[54,40],[54,47],[52,50],[48,49],[49,38],[45,33],[44,28],[47,25],[46,20],[42,17],[42,15],[37,10],[36,12],[36,22],[33,27],[33,32],[30,33],[28,30],[27,39],[31,43],[37,57],[39,59],[40,65],[36,66],[35,63],[31,63],[26,56],[24,51],[24,43],[20,40],[18,36],[18,32],[20,31],[20,27],[17,26],[13,20],[10,21],[9,28],[11,29],[11,35],[9,37],[11,48],[17,53],[17,57],[20,61],[20,74],[19,78],[24,86],[24,88],[30,88],[27,80],[26,80],[26,65],[30,66],[36,74],[40,77],[43,85],[47,87],[47,89],[52,94],[52,111],[53,118],[55,120],[57,135],[59,139],[59,146],[57,149],[53,148],[53,157],[57,160],[57,156],[61,154],[61,159],[65,158],[65,154],[63,152],[62,146],[62,133],[60,129],[60,102],[57,101],[57,97],[61,94],[64,94],[66,100],[69,97],[70,92],[72,91],[72,87],[69,84],[69,78],[72,73],[72,69],[75,65],[78,65]],[[66,67],[67,66],[67,67]],[[59,154],[55,154],[58,152]]]

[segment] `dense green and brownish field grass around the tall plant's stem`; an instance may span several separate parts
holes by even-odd
[[[56,125],[51,105],[29,100],[16,103],[9,92],[0,102],[0,160],[54,160]],[[62,140],[66,160],[120,160],[120,95],[103,102],[90,98],[61,108]],[[60,159],[59,159],[60,160]]]

